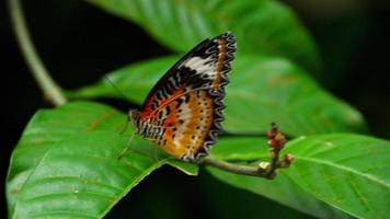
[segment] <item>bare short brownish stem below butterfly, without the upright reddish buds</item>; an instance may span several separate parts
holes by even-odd
[[[269,164],[266,162],[261,163],[259,166],[253,165],[241,165],[236,163],[229,163],[222,160],[217,160],[210,157],[205,157],[199,160],[200,164],[211,165],[228,172],[241,174],[241,175],[251,175],[260,177],[268,177],[268,168]],[[262,165],[263,164],[263,165]]]

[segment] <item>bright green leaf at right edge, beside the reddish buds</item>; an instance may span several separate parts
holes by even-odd
[[[299,138],[286,152],[288,176],[317,198],[362,218],[386,218],[390,206],[390,142],[357,135]]]

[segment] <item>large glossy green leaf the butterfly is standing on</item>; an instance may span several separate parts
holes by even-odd
[[[35,114],[18,143],[7,182],[12,218],[100,218],[162,164],[196,174],[129,131],[126,116],[102,104],[78,102]],[[128,129],[130,130],[130,129]]]

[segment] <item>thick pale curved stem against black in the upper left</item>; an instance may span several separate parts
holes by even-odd
[[[44,96],[54,105],[67,102],[60,87],[51,79],[31,39],[20,0],[9,0],[9,11],[14,34],[25,61]]]

